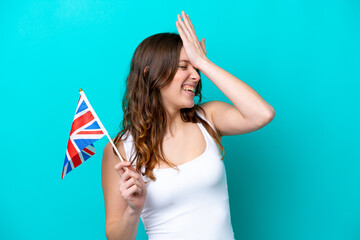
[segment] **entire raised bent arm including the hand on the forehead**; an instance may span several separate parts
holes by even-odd
[[[212,101],[203,105],[221,135],[251,132],[268,124],[275,111],[254,89],[212,63],[206,57],[205,41],[196,36],[194,26],[184,11],[178,15],[176,27],[191,64],[207,76],[235,105]]]

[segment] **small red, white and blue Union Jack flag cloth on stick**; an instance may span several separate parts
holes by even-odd
[[[107,134],[94,109],[80,89],[80,99],[71,126],[61,179],[95,154],[94,142]]]

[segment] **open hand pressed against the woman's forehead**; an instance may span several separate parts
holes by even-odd
[[[181,12],[181,15],[184,21],[182,21],[180,14],[178,14],[176,28],[178,29],[179,35],[183,41],[184,49],[190,63],[195,68],[199,68],[201,62],[207,60],[205,38],[201,39],[201,42],[199,42],[199,39],[197,38],[195,33],[194,26],[190,21],[189,15],[185,14],[184,11]]]

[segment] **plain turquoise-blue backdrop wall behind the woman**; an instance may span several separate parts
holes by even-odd
[[[114,137],[136,46],[177,32],[181,10],[209,59],[276,111],[223,138],[236,239],[360,239],[355,0],[0,1],[0,239],[105,239],[107,139],[61,180],[78,89]],[[204,101],[228,102],[203,84]]]

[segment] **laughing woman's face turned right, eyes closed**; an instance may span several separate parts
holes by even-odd
[[[160,89],[164,107],[170,111],[194,106],[195,89],[200,81],[200,75],[191,65],[184,47],[180,51],[178,70],[170,84]]]

